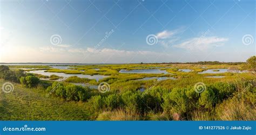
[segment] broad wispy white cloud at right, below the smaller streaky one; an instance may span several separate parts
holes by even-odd
[[[221,38],[221,37],[196,37],[191,38],[183,43],[173,45],[176,48],[182,48],[187,50],[207,50],[211,48],[212,46],[220,46],[224,45],[224,42],[226,42],[228,38]]]

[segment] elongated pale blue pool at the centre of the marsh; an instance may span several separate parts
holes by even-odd
[[[135,69],[135,70],[120,70],[119,73],[164,73],[167,74],[165,70],[159,69]]]

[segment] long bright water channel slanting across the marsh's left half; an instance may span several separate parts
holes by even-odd
[[[93,76],[91,76],[91,75],[83,75],[83,74],[65,74],[65,73],[44,72],[44,71],[45,70],[34,70],[34,71],[28,71],[28,72],[29,73],[37,73],[37,74],[44,75],[44,76],[56,75],[56,76],[65,77],[65,78],[68,78],[68,77],[71,77],[71,76],[77,76],[77,77],[80,77],[80,78],[96,79],[97,82],[100,79],[109,77],[109,76],[103,76],[103,75],[93,75]]]

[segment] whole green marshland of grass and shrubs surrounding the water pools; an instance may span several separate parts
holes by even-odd
[[[31,68],[30,66],[18,66]],[[240,64],[121,64],[73,65],[69,69],[47,69],[46,72],[109,75],[95,79],[70,77],[55,82],[58,76],[46,77],[14,73],[14,91],[0,92],[1,120],[255,120],[255,73],[226,72],[199,74],[208,69],[238,69]],[[37,66],[37,68],[46,68]],[[97,70],[96,70],[97,69]],[[167,74],[120,73],[119,70],[159,69]],[[179,69],[190,69],[181,72]],[[31,69],[33,70],[33,69]],[[7,74],[10,76],[10,73]],[[3,77],[6,73],[3,72]],[[17,75],[18,74],[18,75]],[[8,78],[7,76],[7,78]],[[206,78],[206,76],[224,76]],[[20,82],[19,78],[23,77]],[[174,77],[167,80],[137,80],[145,77]],[[17,79],[18,78],[18,79]],[[34,84],[29,85],[30,83]],[[36,81],[36,82],[35,82]],[[0,86],[7,80],[0,79]],[[15,83],[16,82],[16,83]],[[108,91],[100,92],[72,83],[99,85]],[[203,83],[203,92],[195,85]],[[144,91],[140,91],[140,89]],[[50,95],[49,95],[50,93]],[[48,95],[48,96],[46,96]]]

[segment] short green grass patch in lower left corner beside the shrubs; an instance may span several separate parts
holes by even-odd
[[[4,83],[0,79],[0,86]],[[87,120],[83,103],[46,98],[39,89],[15,84],[11,93],[0,91],[1,120]]]

